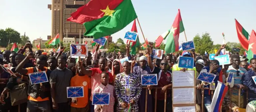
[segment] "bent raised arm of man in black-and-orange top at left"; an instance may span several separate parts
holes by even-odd
[[[24,69],[24,65],[29,61],[30,58],[33,57],[33,53],[29,53],[25,59],[23,59],[20,64],[16,67],[15,71],[22,74],[27,74],[28,70]]]

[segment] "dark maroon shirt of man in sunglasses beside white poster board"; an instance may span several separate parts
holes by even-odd
[[[172,82],[172,73],[170,71],[167,71],[164,73],[164,71],[160,70],[157,74],[158,77],[158,85],[157,87],[164,87],[165,85],[168,85]],[[171,89],[167,89],[167,97],[171,96]],[[155,96],[155,92],[154,92]],[[164,100],[164,93],[161,93],[161,89],[157,89],[157,100]]]

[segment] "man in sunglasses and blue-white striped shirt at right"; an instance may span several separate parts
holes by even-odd
[[[238,106],[238,88],[244,89],[245,85],[243,85],[242,83],[242,77],[246,72],[246,69],[244,69],[243,67],[239,66],[240,65],[240,57],[238,55],[231,55],[231,61],[232,61],[232,65],[230,65],[228,67],[227,70],[227,74],[229,72],[234,73],[234,86],[232,88],[231,91],[231,100],[232,100],[232,104],[235,104],[236,106]],[[243,101],[244,101],[244,97],[243,97],[243,90],[241,91],[241,97],[240,97],[240,107],[243,108]]]

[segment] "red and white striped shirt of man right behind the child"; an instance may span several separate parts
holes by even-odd
[[[90,100],[92,101],[92,95],[94,90],[101,84],[101,79],[100,79],[100,75],[102,73],[100,68],[91,68],[92,70],[92,75],[91,75],[91,97]],[[108,71],[106,71],[108,72]],[[109,75],[109,83],[113,82],[113,76],[110,72],[108,72]]]

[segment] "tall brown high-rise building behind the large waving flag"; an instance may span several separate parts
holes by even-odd
[[[79,44],[83,44],[83,41],[87,40],[87,42],[90,43],[88,43],[88,48],[91,48],[90,40],[92,40],[93,37],[83,35],[85,32],[84,26],[79,23],[67,21],[71,13],[75,12],[79,7],[87,4],[89,1],[90,0],[52,0],[52,4],[48,4],[48,9],[52,11],[51,38],[54,38],[59,33],[60,39],[64,44],[67,44],[67,42],[73,44],[71,40],[74,40],[74,43],[76,43],[77,40],[79,42],[79,37],[81,36],[81,43]],[[80,31],[81,35],[79,36]],[[73,39],[67,41],[64,38]],[[49,36],[47,39],[49,39]],[[112,38],[109,41],[112,42]],[[105,47],[108,47],[108,43]]]

